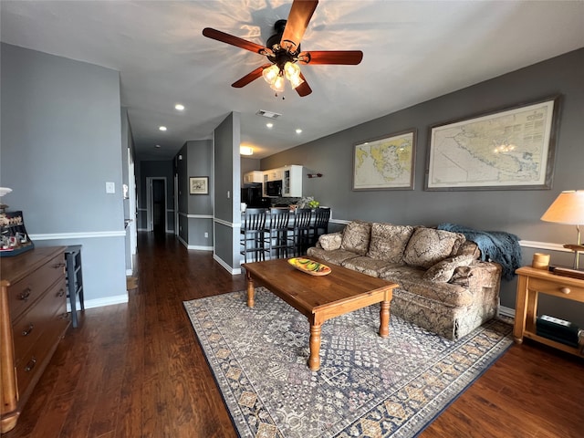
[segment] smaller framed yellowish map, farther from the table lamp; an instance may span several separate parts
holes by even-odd
[[[416,130],[355,145],[353,190],[413,190]]]

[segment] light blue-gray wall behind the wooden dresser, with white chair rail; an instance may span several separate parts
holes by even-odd
[[[89,307],[126,301],[119,73],[6,44],[1,57],[5,203],[36,246],[83,245]]]

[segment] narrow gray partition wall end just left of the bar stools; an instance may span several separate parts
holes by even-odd
[[[240,128],[241,116],[232,112],[214,130],[214,258],[234,273],[240,269]]]

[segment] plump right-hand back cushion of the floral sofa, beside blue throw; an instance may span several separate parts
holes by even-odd
[[[410,266],[428,269],[444,258],[456,255],[466,237],[459,233],[417,227],[403,253],[403,261]]]

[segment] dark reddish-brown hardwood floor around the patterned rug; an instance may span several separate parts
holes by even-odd
[[[136,274],[128,304],[68,329],[5,438],[237,435],[183,300],[244,289],[244,277],[152,234],[139,235]],[[421,436],[582,437],[583,407],[584,360],[514,345]]]

